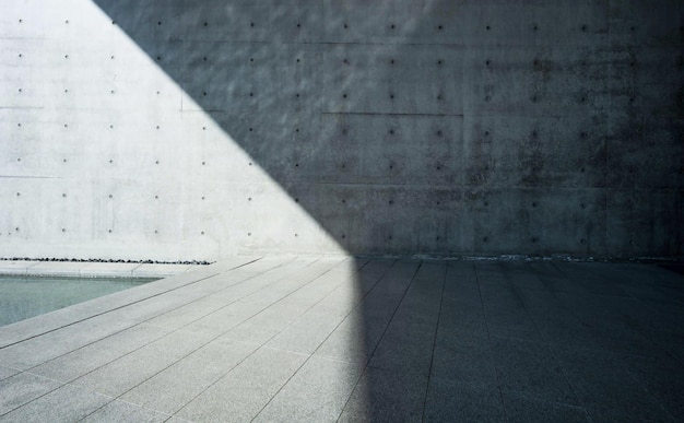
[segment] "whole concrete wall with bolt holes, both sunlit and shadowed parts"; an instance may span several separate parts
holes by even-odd
[[[0,257],[683,254],[680,1],[2,9]]]

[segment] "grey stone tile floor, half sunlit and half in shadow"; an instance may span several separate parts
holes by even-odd
[[[684,420],[654,263],[231,259],[0,328],[0,421]]]

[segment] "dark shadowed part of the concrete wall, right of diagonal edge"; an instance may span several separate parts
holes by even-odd
[[[628,173],[611,117],[652,63],[611,50],[640,35],[627,13],[610,39],[608,2],[95,2],[347,251],[681,252],[677,192],[649,190],[676,160]],[[681,150],[663,98],[653,137]]]

